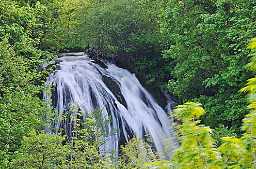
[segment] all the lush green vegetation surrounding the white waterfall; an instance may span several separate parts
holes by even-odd
[[[255,40],[247,48],[255,22],[255,0],[1,0],[0,168],[256,168]],[[119,159],[102,157],[94,117],[73,119],[73,139],[43,132],[48,71],[36,63],[90,47],[116,54],[112,61],[177,103],[202,103],[177,107],[174,154],[134,137]],[[247,79],[250,109],[238,92]]]

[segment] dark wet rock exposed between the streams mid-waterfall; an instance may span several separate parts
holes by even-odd
[[[118,82],[112,79],[111,77],[107,77],[104,75],[102,77],[103,77],[103,82],[108,86],[110,91],[112,91],[116,99],[127,108],[125,98],[122,95],[121,90],[117,84]]]

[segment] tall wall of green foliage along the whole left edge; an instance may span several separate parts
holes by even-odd
[[[45,1],[44,1],[45,2]],[[44,77],[39,58],[53,55],[38,48],[47,8],[39,2],[0,1],[0,168],[10,166],[23,136],[42,129],[47,112],[38,98]]]

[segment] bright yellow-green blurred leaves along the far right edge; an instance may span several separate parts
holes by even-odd
[[[256,39],[254,38],[248,45],[248,48],[255,50],[256,48]],[[253,71],[256,70],[256,54],[252,54],[251,62],[248,64]],[[234,151],[224,151],[224,155],[230,156],[230,159],[234,159],[238,164],[250,167],[253,165],[256,168],[256,78],[251,78],[247,80],[245,87],[240,89],[240,92],[249,92],[248,100],[250,105],[248,109],[250,113],[245,115],[245,118],[242,120],[243,124],[241,129],[245,131],[242,137],[238,140],[235,138],[224,138],[229,144],[224,143],[220,150],[223,151],[223,147],[227,146],[228,149],[233,146],[236,150]]]

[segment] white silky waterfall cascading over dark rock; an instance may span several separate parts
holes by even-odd
[[[107,65],[108,68],[103,69],[85,55],[59,58],[56,70],[47,80],[55,89],[52,105],[57,109],[57,116],[73,101],[77,101],[83,118],[98,108],[102,110],[102,116],[111,116],[109,130],[118,130],[100,147],[101,150],[118,150],[119,145],[128,142],[133,133],[141,139],[148,133],[155,149],[163,152],[165,145],[162,141],[173,137],[167,114],[134,74],[114,64]],[[45,93],[44,99],[47,97]],[[57,134],[56,128],[62,124],[55,120],[49,125],[55,127],[52,132]],[[67,130],[71,134],[71,128]]]

